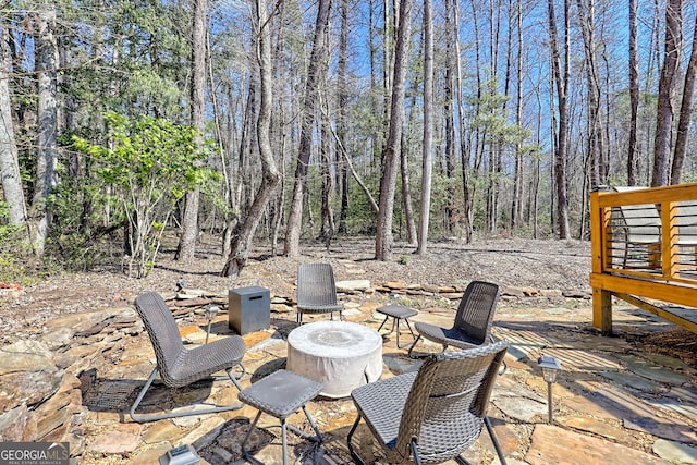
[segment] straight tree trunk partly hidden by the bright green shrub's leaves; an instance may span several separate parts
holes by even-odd
[[[194,19],[192,27],[192,88],[191,121],[199,134],[204,134],[206,121],[206,11],[208,0],[194,0]],[[199,140],[200,142],[200,140]],[[196,186],[186,193],[184,215],[182,217],[182,235],[174,254],[174,259],[189,262],[194,259],[196,240],[198,238],[198,203],[200,189]]]

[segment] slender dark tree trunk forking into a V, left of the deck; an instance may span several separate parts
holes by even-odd
[[[557,135],[557,154],[554,156],[554,179],[557,182],[557,220],[559,238],[568,238],[568,203],[566,198],[566,148],[568,145],[568,13],[570,0],[564,0],[564,68],[562,70],[554,14],[554,0],[548,0],[550,47],[552,51],[552,75],[557,86],[559,111],[559,132]]]

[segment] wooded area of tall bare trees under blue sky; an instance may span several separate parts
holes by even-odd
[[[697,179],[683,0],[9,1],[0,260],[122,237],[588,237],[597,186]],[[121,240],[121,238],[120,238]],[[29,247],[26,247],[26,246]],[[12,267],[10,267],[12,268]],[[5,271],[7,272],[7,271]],[[2,277],[0,277],[2,278]]]

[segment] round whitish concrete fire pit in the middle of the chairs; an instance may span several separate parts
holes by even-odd
[[[348,321],[316,321],[288,336],[288,369],[325,384],[320,395],[345,397],[382,374],[382,338]]]

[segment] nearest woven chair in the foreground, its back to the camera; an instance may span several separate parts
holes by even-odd
[[[486,425],[499,460],[505,465],[487,407],[508,347],[508,341],[499,341],[431,355],[418,372],[354,389],[351,396],[358,417],[347,437],[353,460],[365,464],[352,444],[363,418],[388,463],[440,463],[454,458],[467,464],[461,454],[479,438]]]

